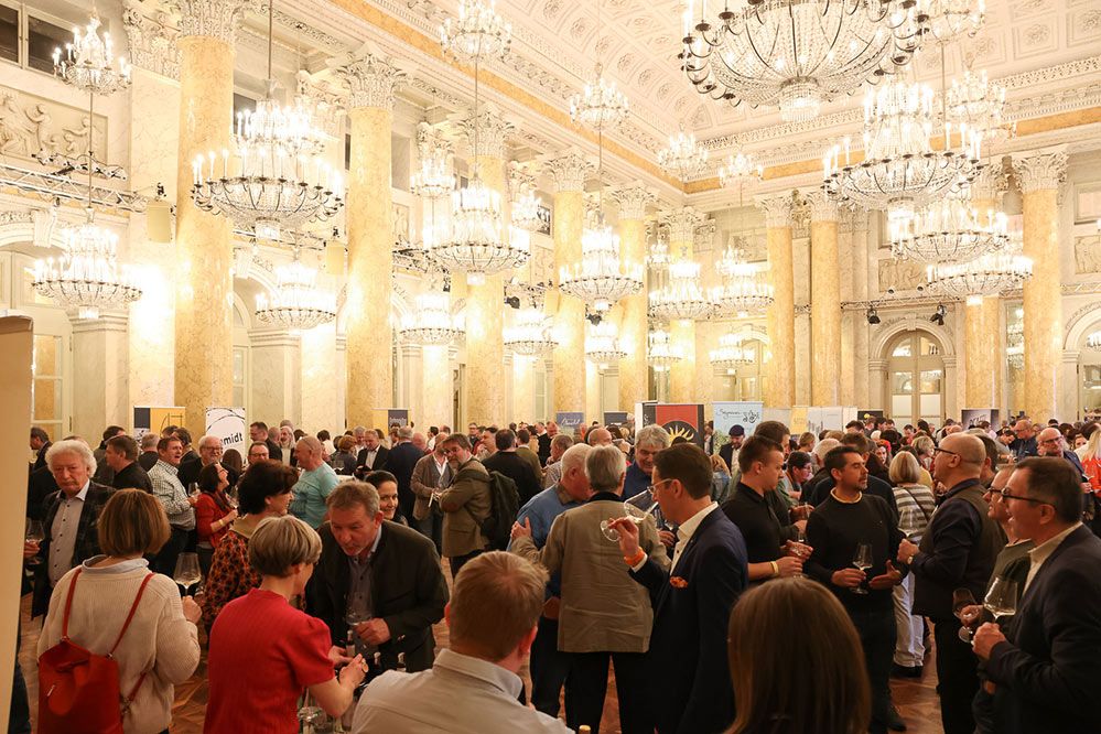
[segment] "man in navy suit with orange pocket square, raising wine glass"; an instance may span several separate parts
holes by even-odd
[[[654,494],[677,526],[671,571],[647,557],[638,526],[620,518],[619,550],[650,592],[650,682],[659,734],[725,731],[734,721],[726,625],[745,589],[746,550],[737,527],[711,501],[711,462],[691,443],[658,452]]]

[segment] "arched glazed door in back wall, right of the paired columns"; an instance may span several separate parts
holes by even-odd
[[[925,419],[939,424],[945,417],[946,384],[940,341],[921,330],[902,332],[888,343],[884,356],[888,414],[896,422]]]

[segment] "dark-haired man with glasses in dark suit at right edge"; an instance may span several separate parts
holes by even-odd
[[[1024,596],[1008,625],[982,625],[974,651],[994,684],[994,731],[1101,731],[1101,539],[1081,522],[1080,477],[1061,457],[1022,460],[1002,490],[1032,538]]]

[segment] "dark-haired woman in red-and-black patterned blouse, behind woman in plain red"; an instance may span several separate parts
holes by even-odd
[[[291,487],[298,478],[298,472],[273,461],[249,464],[241,476],[237,485],[237,500],[242,516],[234,520],[218,541],[211,572],[206,576],[203,623],[207,633],[222,607],[260,585],[260,574],[248,561],[249,538],[265,518],[287,515],[287,508],[294,498]]]

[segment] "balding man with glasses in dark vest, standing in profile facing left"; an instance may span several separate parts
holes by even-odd
[[[952,614],[952,591],[968,589],[982,598],[1005,535],[989,516],[979,481],[986,450],[968,433],[941,441],[932,460],[932,477],[948,492],[932,516],[920,547],[898,546],[898,560],[915,575],[914,614],[933,623],[937,676],[945,734],[972,734],[971,702],[979,690],[975,657],[959,638],[960,620]]]

